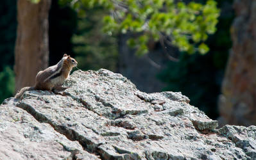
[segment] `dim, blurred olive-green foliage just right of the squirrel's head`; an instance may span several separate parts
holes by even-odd
[[[78,67],[83,70],[107,68],[115,71],[117,37],[108,36],[102,31],[106,11],[101,7],[84,11],[87,16],[78,15],[78,28],[71,39]]]

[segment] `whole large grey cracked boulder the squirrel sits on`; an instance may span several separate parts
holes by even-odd
[[[64,86],[69,88],[58,95],[30,91],[21,100],[4,100],[0,140],[8,148],[0,147],[0,157],[256,158],[255,126],[216,129],[217,121],[181,93],[140,92],[104,69],[78,70]]]

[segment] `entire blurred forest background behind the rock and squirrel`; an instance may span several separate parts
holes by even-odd
[[[121,73],[142,92],[182,92],[220,125],[255,125],[253,6],[249,0],[3,0],[0,102],[67,53],[81,70]]]

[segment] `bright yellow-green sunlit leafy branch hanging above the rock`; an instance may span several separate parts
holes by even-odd
[[[205,4],[173,0],[60,0],[60,4],[67,3],[78,13],[85,8],[107,8],[111,14],[103,18],[103,31],[108,35],[128,31],[142,33],[132,44],[139,55],[148,52],[149,39],[157,41],[161,36],[171,40],[180,51],[205,54],[209,47],[203,42],[215,33],[219,17],[214,0],[207,0]]]

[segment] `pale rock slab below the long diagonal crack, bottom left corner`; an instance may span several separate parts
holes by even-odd
[[[98,159],[15,103],[10,99],[0,107],[0,159]]]

